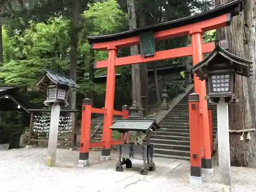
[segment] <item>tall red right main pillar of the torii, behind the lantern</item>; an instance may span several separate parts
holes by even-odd
[[[191,47],[193,48],[193,65],[203,60],[202,51],[202,29],[191,29],[189,35],[191,36]],[[209,120],[208,120],[208,105],[206,100],[206,84],[205,80],[201,81],[194,74],[195,92],[199,95],[200,105],[200,132],[203,133],[202,143],[204,156],[202,157],[202,173],[212,173],[211,150],[210,150],[210,135],[209,135]]]

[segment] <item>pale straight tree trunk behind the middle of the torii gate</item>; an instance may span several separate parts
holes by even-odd
[[[134,0],[127,0],[127,8],[129,13],[129,28],[136,29],[136,13]],[[138,55],[138,46],[131,47],[131,55]],[[132,98],[137,106],[141,108],[141,80],[140,80],[140,66],[139,64],[132,65]]]

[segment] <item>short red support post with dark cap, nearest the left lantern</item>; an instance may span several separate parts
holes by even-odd
[[[83,166],[90,165],[90,131],[91,131],[91,114],[92,99],[86,98],[82,100],[82,121],[81,121],[81,138],[79,150],[79,164]]]

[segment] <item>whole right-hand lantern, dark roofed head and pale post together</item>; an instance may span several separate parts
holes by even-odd
[[[190,68],[200,80],[208,79],[208,101],[217,104],[218,157],[220,167],[220,191],[230,191],[230,148],[228,103],[236,103],[234,94],[236,74],[244,77],[252,75],[253,62],[233,55],[215,42],[215,49],[197,65]]]

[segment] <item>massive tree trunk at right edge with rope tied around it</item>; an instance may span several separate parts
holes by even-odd
[[[216,5],[222,5],[229,0],[215,0]],[[256,88],[255,88],[255,14],[256,2],[244,1],[244,11],[233,17],[231,25],[217,31],[219,39],[228,39],[229,51],[234,55],[254,61],[253,76],[245,78],[236,76],[234,92],[239,97],[237,104],[229,104],[229,129],[244,130],[255,128],[256,125]],[[230,160],[232,166],[256,165],[256,137],[251,132],[251,140],[240,141],[241,134],[230,134]]]

